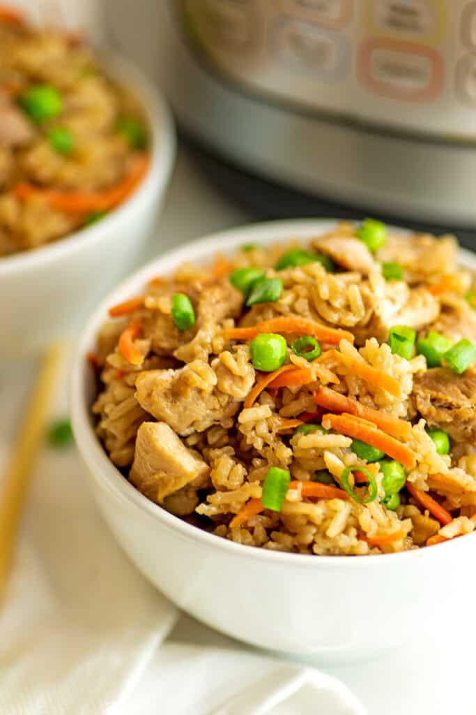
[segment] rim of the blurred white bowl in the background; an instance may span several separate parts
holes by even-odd
[[[104,228],[121,230],[126,212],[140,209],[141,203],[148,195],[161,194],[170,178],[176,154],[176,132],[171,110],[165,97],[157,92],[153,84],[135,64],[123,56],[107,52],[101,54],[101,61],[106,72],[123,87],[132,87],[133,94],[143,110],[151,132],[150,157],[151,162],[146,176],[132,196],[106,215],[100,222],[90,227],[81,228],[59,238],[58,240],[39,246],[30,251],[20,251],[9,256],[0,257],[0,280],[11,274],[24,270],[34,270],[39,265],[61,260],[82,248],[93,249],[101,241]]]

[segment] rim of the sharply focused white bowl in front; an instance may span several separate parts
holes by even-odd
[[[98,487],[105,488],[110,493],[113,493],[116,498],[119,498],[121,502],[129,503],[134,509],[148,514],[160,522],[162,526],[171,529],[171,531],[174,531],[177,536],[183,539],[199,541],[203,543],[203,546],[222,549],[227,551],[230,556],[251,558],[268,564],[273,563],[275,566],[287,563],[293,563],[296,567],[299,566],[300,568],[373,568],[375,564],[378,563],[380,563],[382,567],[385,564],[387,566],[397,566],[397,562],[406,562],[410,561],[410,559],[415,561],[415,558],[425,558],[426,561],[432,558],[439,558],[443,548],[447,550],[447,555],[449,556],[450,549],[460,548],[458,544],[460,544],[460,546],[462,543],[468,544],[469,539],[467,537],[471,536],[470,534],[465,535],[463,539],[452,539],[445,543],[437,544],[436,546],[439,548],[416,548],[411,551],[375,555],[378,558],[363,558],[348,555],[326,555],[312,558],[312,554],[268,551],[268,549],[245,546],[216,536],[196,526],[192,526],[146,498],[123,477],[118,468],[113,465],[94,433],[90,410],[91,405],[88,403],[86,397],[88,384],[91,384],[93,374],[92,368],[88,365],[86,358],[88,352],[93,349],[98,328],[108,317],[108,307],[122,300],[126,300],[127,297],[134,294],[134,291],[136,291],[138,287],[142,287],[143,284],[154,275],[160,272],[167,274],[182,262],[193,261],[207,263],[212,259],[214,253],[221,252],[226,255],[236,250],[240,244],[250,242],[250,239],[252,239],[253,242],[265,245],[272,242],[283,241],[286,238],[309,239],[313,235],[318,235],[320,232],[335,227],[338,221],[337,219],[298,219],[262,222],[216,232],[203,238],[186,242],[146,263],[146,265],[123,280],[121,284],[101,302],[101,305],[97,307],[93,315],[89,318],[86,326],[83,327],[79,340],[76,343],[76,357],[72,365],[69,390],[71,423],[76,445],[78,446],[83,461],[88,467],[88,476],[96,481]],[[409,230],[400,227],[392,228],[395,228],[402,234],[410,233]],[[465,249],[460,249],[459,255],[465,265],[476,270],[476,254]]]

